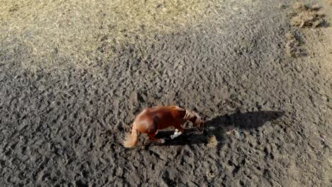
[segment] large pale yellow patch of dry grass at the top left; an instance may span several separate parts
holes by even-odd
[[[1,0],[3,52],[25,47],[28,69],[92,67],[126,45],[211,19],[218,1]],[[13,46],[16,45],[16,46]]]

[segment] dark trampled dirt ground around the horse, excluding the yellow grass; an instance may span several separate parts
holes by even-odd
[[[221,1],[93,72],[31,71],[28,45],[0,40],[0,183],[332,186],[332,5],[294,3]],[[204,116],[204,134],[122,147],[135,115],[169,104]]]

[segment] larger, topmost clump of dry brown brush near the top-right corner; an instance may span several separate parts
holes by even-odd
[[[313,6],[297,3],[293,6],[292,25],[299,28],[318,28],[328,26],[325,21],[325,15],[319,10],[321,6],[315,4]]]

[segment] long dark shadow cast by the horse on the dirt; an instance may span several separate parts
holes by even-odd
[[[214,135],[218,142],[223,140],[227,129],[236,129],[238,132],[258,128],[264,125],[267,121],[275,120],[284,115],[283,111],[257,111],[248,113],[233,113],[231,115],[222,115],[211,120],[207,120],[204,127],[204,133],[197,134],[194,128],[186,129],[184,134],[176,137],[174,140],[170,139],[170,135],[174,131],[160,131],[156,135],[157,138],[165,138],[166,142],[163,145],[194,145],[204,144],[207,142],[207,137]]]

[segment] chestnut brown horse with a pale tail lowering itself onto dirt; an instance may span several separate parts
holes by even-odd
[[[138,142],[138,132],[148,134],[149,139],[158,143],[164,143],[163,139],[156,139],[158,130],[174,127],[174,135],[171,138],[179,136],[184,132],[182,125],[190,121],[200,132],[203,132],[204,120],[197,113],[187,111],[178,106],[155,106],[145,108],[138,114],[133,122],[131,134],[126,135],[123,140],[124,147],[134,147]]]

